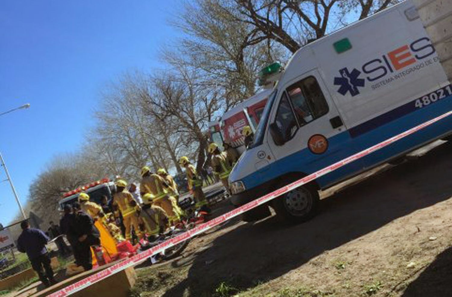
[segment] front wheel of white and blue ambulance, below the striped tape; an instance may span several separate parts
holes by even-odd
[[[319,201],[316,187],[308,184],[276,198],[273,201],[273,209],[282,222],[300,224],[317,215]]]

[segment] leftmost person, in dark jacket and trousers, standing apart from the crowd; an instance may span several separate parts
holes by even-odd
[[[41,282],[46,287],[50,287],[51,284],[56,282],[53,278],[53,270],[46,248],[49,238],[41,230],[30,228],[28,221],[20,223],[20,228],[23,231],[17,239],[17,249],[20,252],[27,253],[33,270],[38,273]]]

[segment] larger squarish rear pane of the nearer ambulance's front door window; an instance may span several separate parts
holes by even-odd
[[[304,78],[286,90],[301,126],[328,113],[328,103],[315,77]]]

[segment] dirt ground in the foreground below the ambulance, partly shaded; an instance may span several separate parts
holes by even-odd
[[[131,295],[452,296],[451,157],[445,143],[334,187],[305,224],[227,222],[138,268]]]

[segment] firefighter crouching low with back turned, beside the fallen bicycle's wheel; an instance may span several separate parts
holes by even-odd
[[[142,196],[143,207],[140,217],[147,235],[153,236],[164,233],[169,226],[168,215],[160,206],[153,205],[153,195],[146,193]]]

